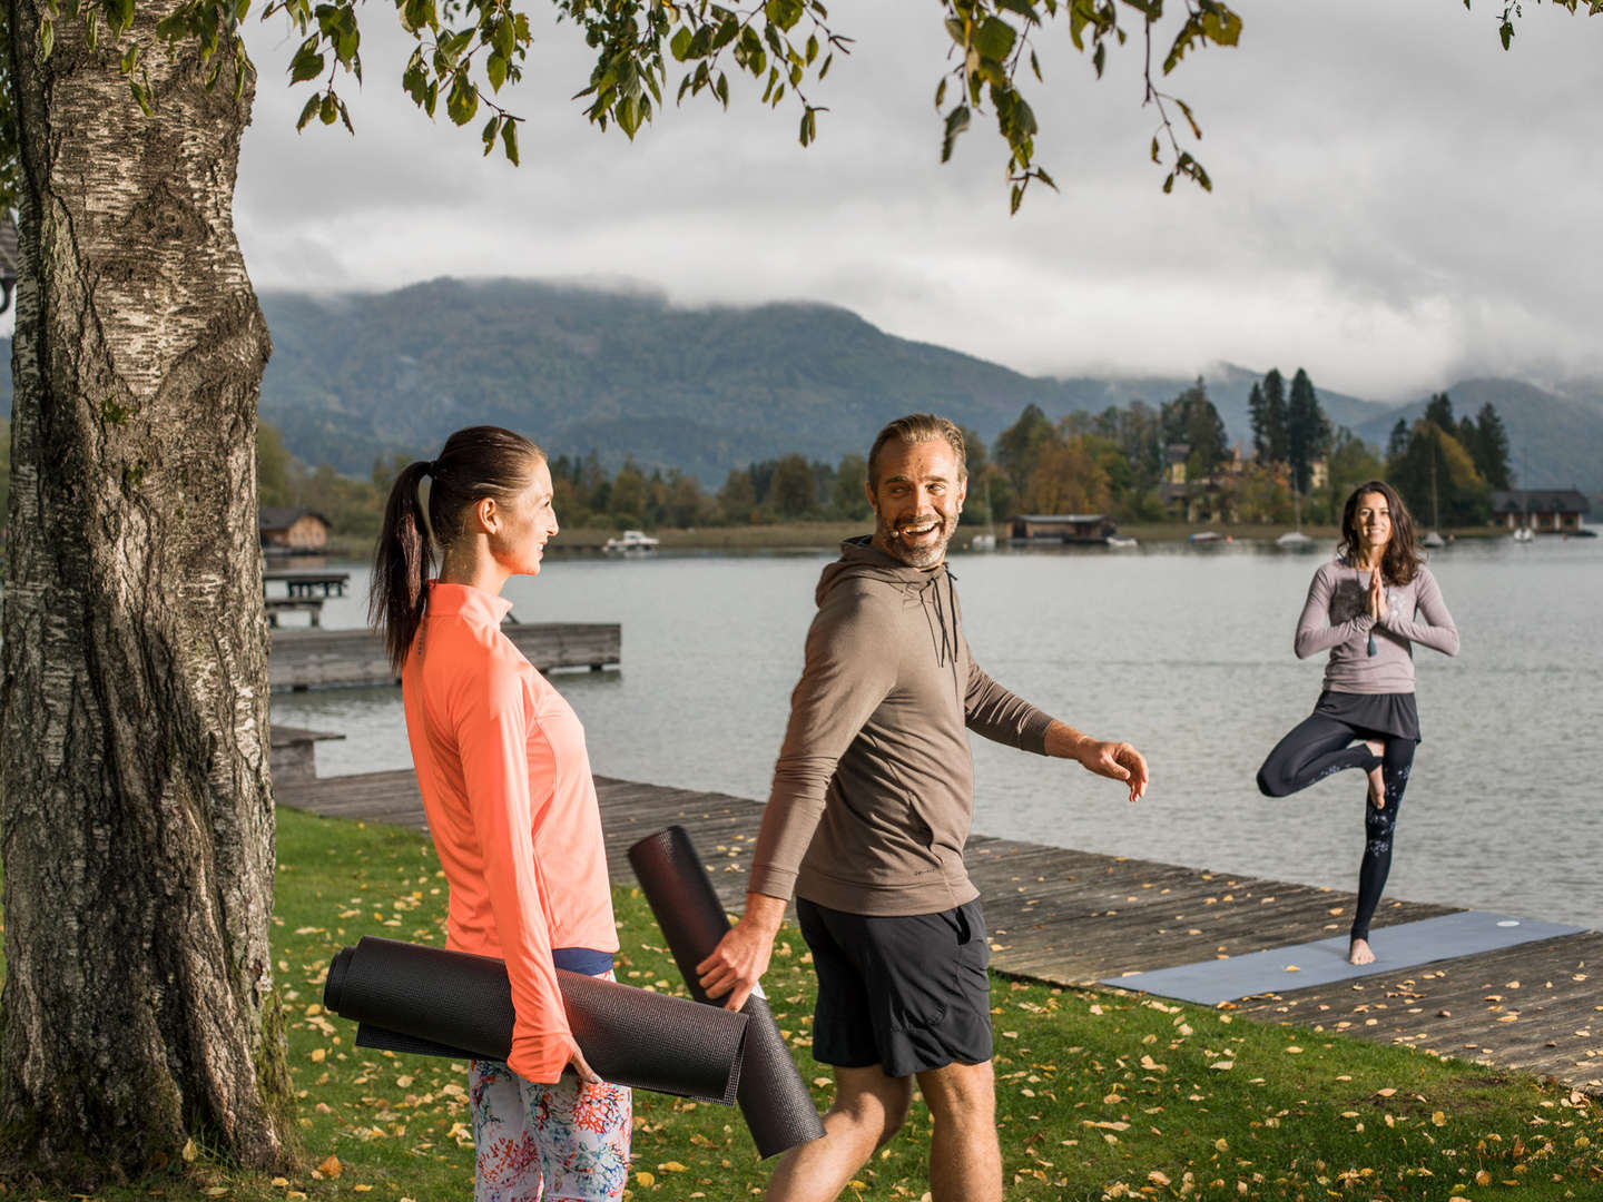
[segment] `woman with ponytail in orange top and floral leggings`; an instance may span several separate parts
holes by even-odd
[[[617,1199],[628,1176],[630,1091],[585,1063],[556,987],[558,968],[611,979],[617,950],[585,732],[500,630],[502,587],[539,575],[555,534],[540,449],[471,426],[396,479],[373,558],[370,615],[450,886],[447,946],[511,978],[511,1055],[468,1069],[474,1202]]]

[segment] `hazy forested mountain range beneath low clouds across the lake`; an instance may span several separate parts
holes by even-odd
[[[1159,405],[1193,383],[1028,377],[827,305],[683,308],[648,290],[535,280],[268,292],[261,308],[274,343],[263,420],[303,462],[364,476],[380,457],[433,454],[457,426],[487,422],[532,434],[553,455],[596,450],[609,468],[633,458],[715,489],[752,460],[861,454],[880,425],[914,410],[944,413],[989,441],[1028,404],[1052,418]],[[1287,380],[1297,369],[1279,367]],[[1221,364],[1202,375],[1231,439],[1249,442],[1247,394],[1262,372]],[[0,373],[5,415],[10,385]],[[1335,425],[1380,447],[1428,399],[1387,405],[1318,391]],[[1446,391],[1459,415],[1497,407],[1520,484],[1603,494],[1603,381],[1483,378]]]

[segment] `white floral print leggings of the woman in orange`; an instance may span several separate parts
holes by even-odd
[[[608,973],[608,978],[612,974]],[[478,1149],[473,1202],[612,1202],[628,1183],[633,1095],[622,1085],[526,1082],[499,1061],[468,1064]]]

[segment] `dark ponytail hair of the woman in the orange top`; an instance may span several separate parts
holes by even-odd
[[[401,470],[385,505],[385,524],[373,550],[373,583],[367,620],[385,641],[396,675],[428,609],[428,572],[434,543],[444,551],[462,534],[466,511],[486,497],[511,505],[529,487],[529,476],[545,452],[523,434],[500,426],[468,426],[446,439],[439,458]],[[428,489],[428,522],[417,490]],[[430,535],[433,532],[433,542]]]

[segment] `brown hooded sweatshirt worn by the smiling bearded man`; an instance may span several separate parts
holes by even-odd
[[[1050,724],[975,664],[944,563],[848,538],[818,583],[749,888],[870,915],[973,901],[965,728],[1045,755]]]

